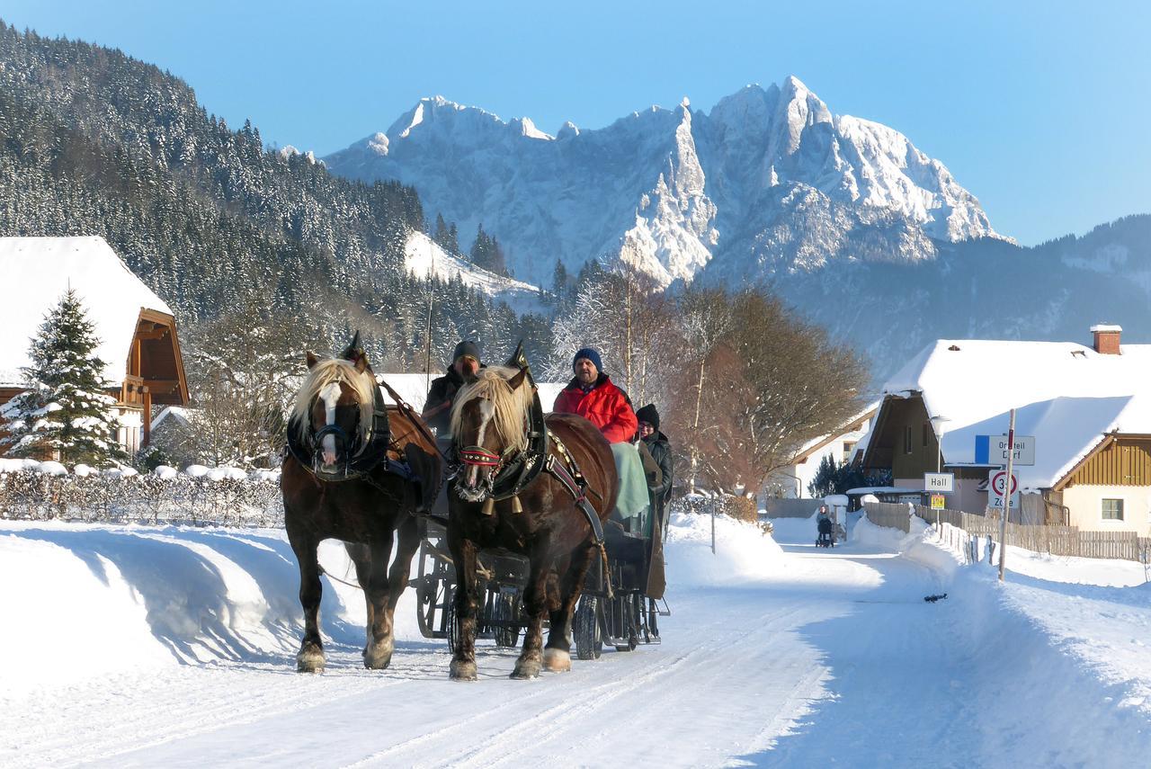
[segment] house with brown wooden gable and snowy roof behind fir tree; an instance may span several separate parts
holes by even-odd
[[[102,237],[0,237],[0,269],[10,287],[0,302],[0,404],[24,390],[29,343],[69,288],[100,340],[104,375],[115,382],[108,394],[125,450],[147,444],[153,406],[188,403],[171,309]]]

